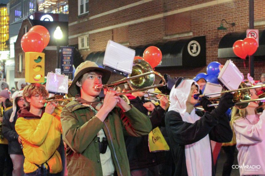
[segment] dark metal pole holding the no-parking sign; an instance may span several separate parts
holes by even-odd
[[[254,29],[254,0],[249,0],[249,29]],[[249,73],[254,78],[254,56],[249,56]]]

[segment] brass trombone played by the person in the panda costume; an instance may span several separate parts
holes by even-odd
[[[211,95],[222,94],[222,93],[226,93],[226,92],[234,92],[234,94],[233,94],[233,102],[235,103],[235,107],[238,108],[238,109],[244,109],[252,101],[265,100],[265,98],[259,98],[259,99],[251,100],[251,94],[249,92],[249,89],[262,88],[264,86],[265,86],[265,84],[248,87],[245,83],[241,83],[239,85],[239,89],[226,90],[226,91],[222,91],[222,92],[215,92],[215,93],[202,94],[202,95],[196,94],[196,95],[194,95],[194,99],[198,99],[199,97],[203,97],[203,96],[211,96]],[[214,98],[209,98],[208,100],[210,100],[210,101],[218,101],[218,98],[219,97],[214,97]],[[208,107],[212,107],[212,106],[218,106],[218,104],[208,104]]]

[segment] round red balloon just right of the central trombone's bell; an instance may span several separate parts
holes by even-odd
[[[152,68],[155,68],[162,60],[161,50],[155,46],[149,46],[145,49],[143,58]]]

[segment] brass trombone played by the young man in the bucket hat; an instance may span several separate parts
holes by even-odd
[[[155,75],[160,77],[160,79],[162,80],[161,84],[153,85]],[[107,88],[109,90],[110,88],[124,83],[128,83],[134,90],[117,93],[117,96],[124,95],[127,93],[145,91],[151,88],[158,88],[167,84],[165,78],[159,72],[153,71],[153,68],[149,65],[148,62],[141,59],[136,59],[133,61],[132,73],[128,76],[128,78],[124,78],[122,80],[118,80],[109,84],[96,85],[95,89],[100,90],[102,88]]]

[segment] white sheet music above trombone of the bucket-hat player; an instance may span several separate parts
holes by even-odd
[[[125,73],[132,73],[134,57],[135,50],[109,40],[104,55],[103,65]]]

